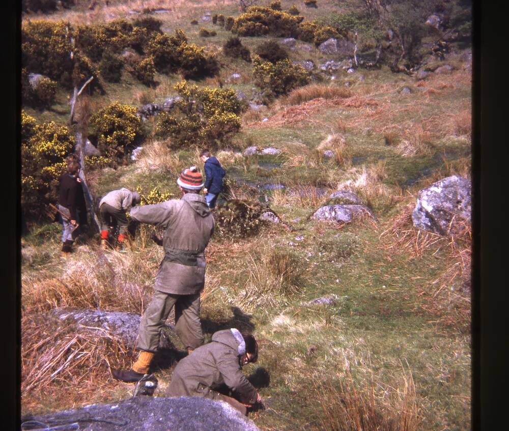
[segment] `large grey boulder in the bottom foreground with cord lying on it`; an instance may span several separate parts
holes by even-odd
[[[119,429],[259,431],[253,421],[224,401],[189,396],[136,396],[118,403],[94,404],[79,409],[21,418],[22,423],[27,421],[38,421],[50,427],[77,423],[79,429],[88,431],[117,431]],[[78,428],[69,427],[69,429]]]

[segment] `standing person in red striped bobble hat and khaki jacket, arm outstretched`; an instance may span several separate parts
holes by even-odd
[[[177,179],[181,199],[134,207],[133,220],[165,227],[164,257],[156,275],[155,292],[139,324],[139,356],[129,370],[113,369],[114,378],[137,382],[148,373],[159,346],[161,328],[175,307],[175,330],[188,352],[202,346],[200,293],[205,286],[205,248],[214,232],[214,218],[200,195],[203,178],[191,166]]]

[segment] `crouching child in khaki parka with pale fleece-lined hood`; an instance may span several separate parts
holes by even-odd
[[[247,407],[262,398],[242,373],[242,366],[258,360],[258,343],[251,334],[225,329],[212,335],[211,342],[182,359],[173,371],[168,396],[201,396],[226,401],[247,414]],[[218,392],[226,385],[231,396]]]

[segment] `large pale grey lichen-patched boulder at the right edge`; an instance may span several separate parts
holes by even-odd
[[[448,235],[451,220],[470,221],[472,212],[470,180],[453,175],[419,191],[412,213],[414,226],[439,235]]]

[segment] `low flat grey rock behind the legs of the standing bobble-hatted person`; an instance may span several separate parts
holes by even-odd
[[[90,328],[98,328],[98,330],[111,332],[120,337],[127,348],[134,349],[141,320],[139,314],[123,311],[79,310],[73,308],[54,308],[50,313],[62,322],[72,319],[78,324],[78,329],[82,326],[87,327],[87,331],[90,331]],[[173,328],[173,326],[165,325],[166,331],[171,331]],[[161,349],[172,347],[171,341],[165,335],[166,331],[161,332],[159,340],[159,348]]]

